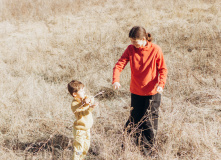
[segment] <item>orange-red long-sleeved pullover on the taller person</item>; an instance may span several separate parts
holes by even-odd
[[[130,61],[130,92],[136,95],[154,95],[156,87],[164,88],[167,68],[161,48],[148,42],[146,46],[135,48],[129,45],[113,69],[113,82],[120,81],[120,73]]]

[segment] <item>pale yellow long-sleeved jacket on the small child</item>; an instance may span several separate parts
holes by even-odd
[[[91,108],[89,104],[84,104],[84,100],[81,101],[80,99],[74,98],[71,103],[71,109],[76,118],[74,128],[77,130],[88,130],[93,125],[93,108]]]

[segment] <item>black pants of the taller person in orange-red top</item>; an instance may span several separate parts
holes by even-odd
[[[131,94],[131,113],[124,130],[134,136],[137,145],[150,148],[158,127],[158,112],[161,94],[139,96]],[[155,130],[155,131],[154,131]]]

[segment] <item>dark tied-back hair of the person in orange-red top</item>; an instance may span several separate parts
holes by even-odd
[[[151,34],[147,33],[146,30],[141,26],[134,26],[130,30],[129,37],[133,39],[143,39],[143,37],[145,37],[148,42],[152,41]]]

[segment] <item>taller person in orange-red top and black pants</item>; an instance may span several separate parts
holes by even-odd
[[[154,144],[158,126],[158,109],[166,83],[167,68],[161,48],[151,42],[151,35],[141,26],[130,30],[131,45],[127,47],[113,69],[113,87],[120,87],[120,73],[130,62],[131,107],[125,130],[135,133],[138,145],[145,148]],[[141,141],[139,142],[139,136]],[[147,141],[146,141],[147,140]]]

